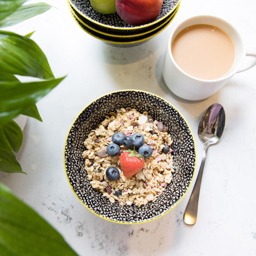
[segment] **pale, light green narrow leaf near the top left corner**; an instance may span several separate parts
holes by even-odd
[[[47,3],[32,3],[31,5],[22,5],[17,8],[16,11],[12,12],[11,15],[0,21],[0,28],[9,27],[23,22],[23,20],[27,20],[33,16],[48,11],[51,7],[52,6],[48,5]]]

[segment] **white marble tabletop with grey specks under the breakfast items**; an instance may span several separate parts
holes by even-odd
[[[45,2],[56,8],[10,30],[22,35],[36,30],[32,39],[48,57],[54,75],[67,77],[37,104],[43,122],[28,118],[25,125],[18,160],[27,175],[1,173],[1,181],[45,217],[79,255],[256,255],[256,67],[236,74],[221,91],[197,102],[173,95],[161,74],[169,34],[187,16],[224,18],[247,45],[255,46],[256,2],[181,0],[169,27],[133,48],[114,48],[87,35],[75,24],[66,1]],[[195,136],[196,174],[203,151],[198,118],[213,103],[224,106],[224,134],[208,150],[193,227],[182,220],[191,188],[167,215],[138,225],[97,217],[70,189],[63,149],[71,123],[92,100],[128,88],[156,93],[184,115]]]

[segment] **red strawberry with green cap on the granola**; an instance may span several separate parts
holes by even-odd
[[[123,175],[130,178],[144,167],[144,157],[134,150],[123,151],[120,156],[120,165]]]

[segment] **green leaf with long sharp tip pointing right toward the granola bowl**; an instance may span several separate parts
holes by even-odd
[[[27,110],[64,78],[29,83],[0,81],[0,124]]]

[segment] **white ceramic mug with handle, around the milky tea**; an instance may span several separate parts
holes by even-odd
[[[236,47],[236,59],[234,65],[228,74],[221,76],[221,78],[214,80],[195,78],[183,71],[174,61],[171,49],[174,38],[180,31],[182,31],[182,29],[195,24],[214,25],[227,33],[234,42]],[[254,62],[250,67],[241,70],[241,66],[244,63],[246,56],[256,57],[256,50],[246,52],[245,44],[240,33],[238,33],[231,24],[215,16],[194,16],[182,22],[171,33],[164,57],[163,77],[170,91],[182,99],[203,100],[219,91],[219,89],[223,87],[234,74],[250,69],[250,67],[253,67],[256,64],[256,62]]]

